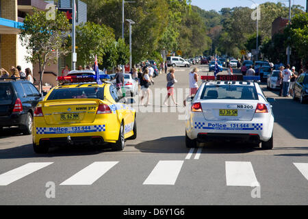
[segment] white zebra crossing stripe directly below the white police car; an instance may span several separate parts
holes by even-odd
[[[251,162],[226,162],[227,185],[255,186],[257,178]]]

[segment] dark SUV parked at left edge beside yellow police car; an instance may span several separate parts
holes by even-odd
[[[36,87],[25,79],[0,79],[0,129],[18,126],[23,134],[32,131],[33,113],[41,101]]]

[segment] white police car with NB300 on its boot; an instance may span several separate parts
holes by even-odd
[[[255,77],[242,75],[202,76],[204,81],[192,99],[186,120],[185,143],[235,141],[273,147],[274,115]],[[248,81],[250,80],[250,81]]]

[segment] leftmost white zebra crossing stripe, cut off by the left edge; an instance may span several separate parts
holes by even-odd
[[[28,163],[0,175],[0,185],[9,185],[18,179],[21,179],[32,172],[36,172],[53,162]]]

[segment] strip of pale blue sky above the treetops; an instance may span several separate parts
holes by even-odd
[[[220,11],[221,8],[233,8],[237,6],[251,7],[253,1],[257,4],[267,2],[266,0],[192,0],[192,5],[196,5],[204,10]],[[277,3],[278,0],[268,0]],[[289,1],[281,1],[285,5],[289,5]],[[292,4],[302,5],[306,10],[306,0],[291,0]]]

